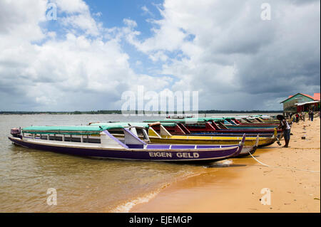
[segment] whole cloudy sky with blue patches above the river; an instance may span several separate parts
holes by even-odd
[[[200,110],[320,93],[320,1],[0,0],[0,111],[120,110],[138,85]]]

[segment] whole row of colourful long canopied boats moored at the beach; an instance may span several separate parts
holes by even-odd
[[[280,137],[270,116],[188,117],[11,129],[16,145],[63,154],[166,162],[213,162],[253,154]]]

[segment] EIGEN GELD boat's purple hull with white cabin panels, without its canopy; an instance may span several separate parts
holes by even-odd
[[[143,161],[215,161],[217,159],[227,159],[240,154],[243,149],[245,135],[240,144],[221,145],[190,145],[190,144],[146,144],[130,130],[124,128],[125,142],[121,142],[111,133],[104,130],[100,133],[101,142],[73,142],[63,140],[47,139],[42,137],[24,136],[24,134],[11,133],[11,142],[31,149],[40,149],[62,154],[71,154],[83,157],[102,157],[108,159],[128,159]],[[56,135],[55,135],[56,137]],[[81,136],[83,138],[83,136]]]

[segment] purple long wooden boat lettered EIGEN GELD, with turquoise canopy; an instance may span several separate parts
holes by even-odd
[[[124,140],[113,137],[110,126],[43,126],[12,129],[9,139],[16,145],[62,154],[108,159],[166,162],[213,162],[235,157],[243,149],[245,135],[230,146],[200,144],[146,144],[128,128]],[[98,136],[97,136],[98,135]]]

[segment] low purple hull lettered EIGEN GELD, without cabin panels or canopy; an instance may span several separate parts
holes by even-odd
[[[36,141],[37,139],[21,139],[9,137],[14,144],[31,149],[41,149],[62,154],[72,154],[83,157],[103,157],[109,159],[130,159],[144,161],[215,161],[237,156],[243,144],[233,147],[216,148],[209,145],[169,145],[147,144],[144,148],[108,148],[101,144],[79,144],[75,142]]]

